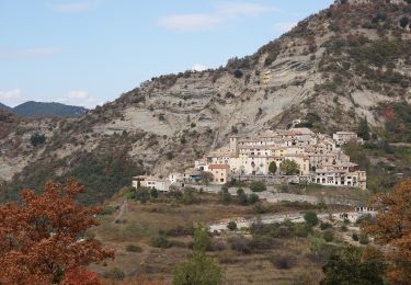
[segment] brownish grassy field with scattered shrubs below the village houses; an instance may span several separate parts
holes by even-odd
[[[218,195],[197,194],[194,204],[184,205],[160,195],[146,204],[137,201],[127,202],[122,209],[124,193],[118,194],[106,204],[107,214],[99,216],[101,225],[88,232],[101,240],[105,247],[114,249],[115,259],[104,264],[92,265],[91,269],[105,276],[112,284],[122,280],[122,283],[128,284],[139,276],[169,284],[175,265],[186,261],[192,252],[191,235],[173,235],[170,233],[171,229],[179,226],[180,229],[190,229],[197,223],[209,224],[258,215],[252,205],[241,206],[236,201],[225,205],[219,200]],[[269,213],[295,213],[315,208],[298,203],[263,206]],[[232,239],[241,237],[252,240],[255,237],[250,231],[229,231],[213,236],[212,241],[215,246],[208,254],[221,264],[225,284],[318,284],[322,277],[324,258],[316,255],[317,250],[312,250],[313,236],[321,239],[321,232],[317,231],[320,230],[308,237],[270,237],[269,246],[253,249],[247,254],[233,249]],[[333,231],[335,238],[332,243],[343,242],[338,226]],[[152,246],[151,241],[159,232],[167,237],[172,247],[162,249]],[[130,250],[130,246],[136,246],[134,251]],[[278,259],[285,259],[289,266],[276,264]]]

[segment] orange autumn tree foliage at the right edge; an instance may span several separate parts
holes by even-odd
[[[411,180],[403,181],[389,194],[377,195],[375,204],[383,213],[365,230],[375,237],[376,243],[388,246],[387,277],[392,284],[410,284]]]

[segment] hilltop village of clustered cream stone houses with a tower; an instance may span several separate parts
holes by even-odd
[[[317,183],[327,186],[366,189],[366,172],[350,162],[342,146],[362,144],[352,132],[338,132],[332,137],[309,128],[269,130],[255,137],[230,136],[228,145],[212,150],[184,173],[168,179],[136,176],[134,186],[169,191],[171,185],[207,181],[226,184],[231,181],[260,180],[272,184]]]

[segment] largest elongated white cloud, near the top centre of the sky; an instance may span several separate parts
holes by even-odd
[[[198,32],[212,30],[239,16],[256,16],[273,11],[279,10],[258,3],[227,3],[210,13],[168,15],[160,18],[158,22],[161,26],[174,32]]]

